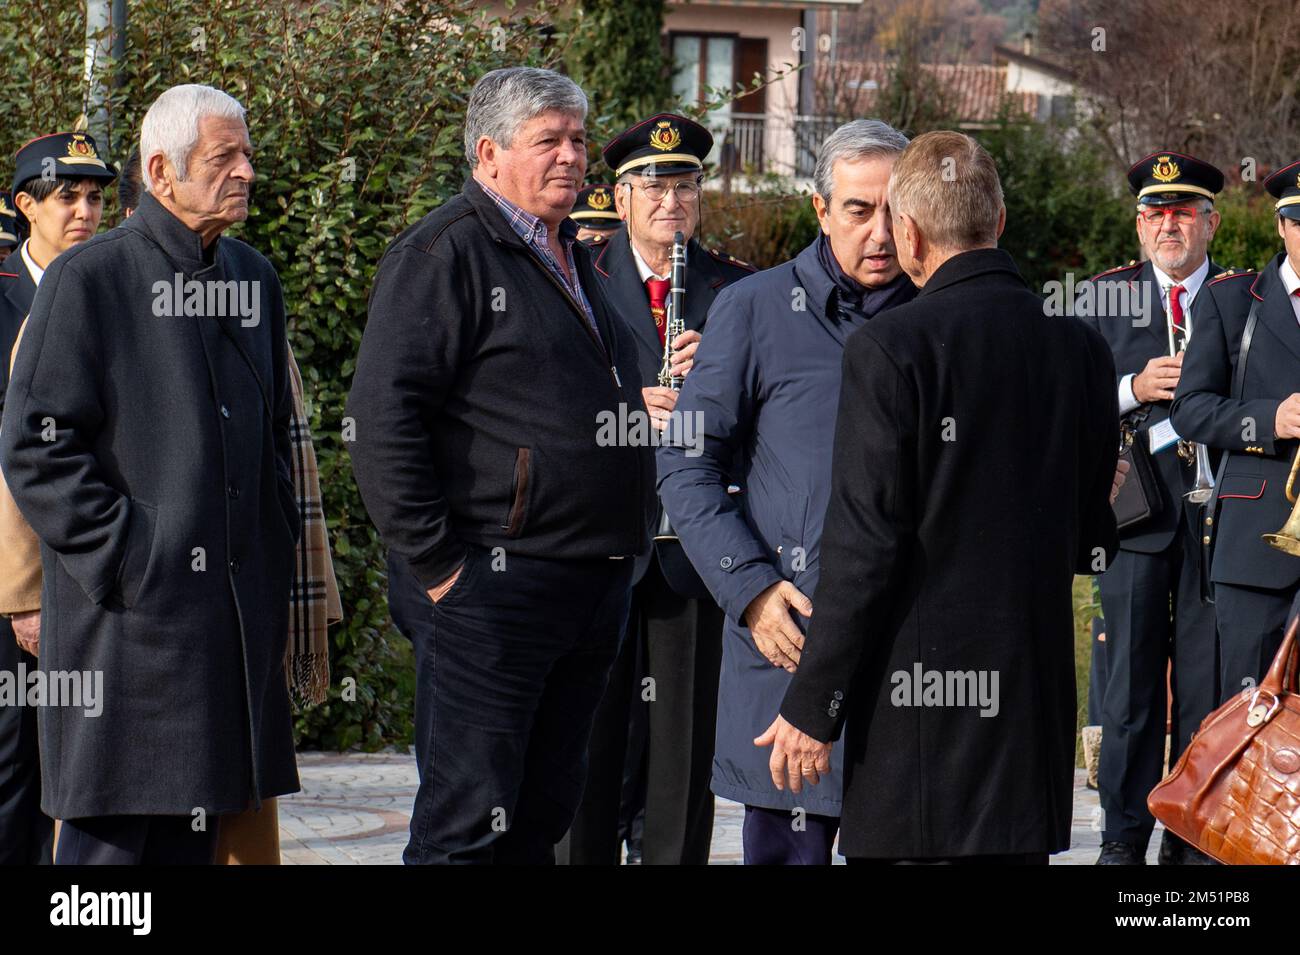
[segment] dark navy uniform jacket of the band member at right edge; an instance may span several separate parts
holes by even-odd
[[[1205,528],[1214,543],[1210,579],[1271,590],[1300,581],[1300,560],[1260,539],[1291,515],[1286,483],[1297,446],[1273,431],[1278,405],[1300,392],[1300,324],[1278,273],[1282,261],[1279,255],[1264,272],[1213,281],[1196,296],[1192,340],[1174,396],[1178,433],[1227,451],[1216,489],[1218,516]],[[1253,303],[1258,320],[1235,399],[1232,374]]]

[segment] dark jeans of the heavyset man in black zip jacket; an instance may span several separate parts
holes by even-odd
[[[630,560],[469,548],[415,644],[420,789],[403,861],[555,861],[630,574]]]

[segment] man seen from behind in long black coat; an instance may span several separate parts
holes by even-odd
[[[889,205],[922,291],[845,348],[818,612],[755,743],[800,791],[844,732],[850,861],[1046,863],[1070,839],[1072,576],[1118,546],[1114,364],[997,249],[972,139],[913,140]]]

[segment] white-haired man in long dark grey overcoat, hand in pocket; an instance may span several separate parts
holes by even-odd
[[[39,713],[60,864],[211,861],[221,815],[298,790],[285,307],[221,235],[251,156],[226,94],[159,96],[139,209],[51,264],[14,364],[0,465],[42,542],[40,670],[70,689]]]

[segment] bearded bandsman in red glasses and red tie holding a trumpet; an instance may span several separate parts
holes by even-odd
[[[1202,286],[1222,272],[1208,248],[1219,225],[1214,196],[1223,174],[1192,156],[1162,151],[1128,170],[1138,197],[1138,240],[1148,261],[1096,275],[1096,303],[1139,303],[1140,314],[1083,316],[1105,337],[1119,376],[1119,413],[1131,414],[1136,442],[1150,455],[1160,504],[1121,531],[1121,550],[1100,578],[1109,681],[1102,703],[1098,782],[1105,812],[1098,864],[1141,864],[1154,819],[1147,795],[1164,776],[1166,669],[1173,660],[1170,764],[1217,706],[1214,608],[1202,602],[1201,505],[1186,502],[1195,461],[1184,460],[1169,425],[1183,364],[1182,348],[1200,330],[1188,320]],[[1122,283],[1136,296],[1106,295]],[[1082,301],[1082,300],[1080,300]],[[1080,309],[1084,311],[1084,309]],[[1170,322],[1173,320],[1173,351]],[[1213,443],[1212,443],[1213,447]],[[1190,457],[1190,455],[1187,455]],[[1300,563],[1297,563],[1300,574]],[[1167,830],[1160,861],[1204,860]]]

